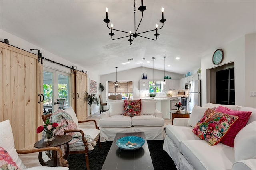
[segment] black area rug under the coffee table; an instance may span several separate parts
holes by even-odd
[[[147,142],[155,170],[177,170],[172,158],[163,150],[164,141],[147,140]],[[89,152],[90,170],[101,170],[111,145],[112,142],[102,142],[102,149],[96,145],[94,150]],[[70,154],[67,160],[70,170],[86,169],[84,154]]]

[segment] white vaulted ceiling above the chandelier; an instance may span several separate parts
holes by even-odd
[[[138,32],[155,29],[156,23],[160,27],[161,8],[164,7],[167,21],[158,30],[160,35],[156,41],[136,37],[129,45],[128,38],[111,40],[108,35],[110,29],[103,22],[106,7],[114,29],[134,32],[133,0],[0,0],[0,26],[4,31],[99,75],[116,72],[115,67],[118,71],[141,67],[142,58],[146,58],[145,67],[152,68],[152,57],[156,58],[154,68],[164,70],[163,56],[166,56],[166,71],[185,74],[200,67],[202,56],[256,31],[255,0],[144,0],[143,4],[147,9]],[[141,17],[140,5],[141,1],[137,0],[137,25]],[[126,35],[114,33],[113,38]],[[144,36],[154,38],[154,33]],[[1,40],[4,38],[8,39],[1,37]],[[131,58],[129,64],[122,65]]]

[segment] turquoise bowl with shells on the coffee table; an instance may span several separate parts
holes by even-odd
[[[136,150],[141,148],[145,140],[138,136],[126,136],[116,140],[116,146],[123,150]]]

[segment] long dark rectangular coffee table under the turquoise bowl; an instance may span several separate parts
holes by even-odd
[[[120,149],[116,146],[116,140],[125,136],[142,137],[145,144],[136,150]],[[102,170],[154,170],[145,133],[116,133]]]

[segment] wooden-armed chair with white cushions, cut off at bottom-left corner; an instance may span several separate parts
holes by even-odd
[[[13,138],[13,134],[12,134],[12,127],[10,124],[10,120],[5,120],[5,121],[0,122],[0,129],[1,129],[0,147],[2,147],[4,149],[4,153],[6,154],[6,155],[1,155],[1,157],[3,158],[3,160],[1,160],[1,163],[2,163],[2,161],[4,161],[5,165],[9,164],[9,166],[11,166],[10,162],[9,162],[10,159],[8,159],[8,161],[5,160],[5,158],[11,157],[12,160],[16,163],[17,167],[19,167],[20,169],[25,169],[26,166],[22,163],[22,160],[20,159],[18,154],[30,154],[30,153],[36,153],[36,152],[44,152],[46,150],[56,150],[57,153],[60,155],[60,158],[59,158],[60,166],[63,166],[63,167],[62,168],[51,167],[51,169],[52,170],[56,170],[56,169],[68,170],[69,169],[68,161],[62,157],[62,150],[59,147],[46,147],[46,148],[30,149],[30,150],[16,150],[14,148],[14,138]],[[33,160],[34,159],[35,158],[33,157]],[[4,165],[1,167],[1,169],[2,168],[4,168]],[[28,168],[28,169],[30,169],[30,168]],[[36,166],[36,167],[31,167],[31,169],[33,169],[33,170],[44,170],[44,169],[49,170],[50,168],[45,167],[45,166]]]

